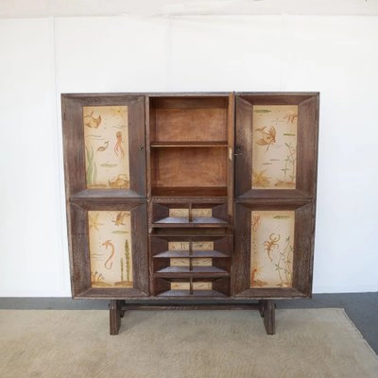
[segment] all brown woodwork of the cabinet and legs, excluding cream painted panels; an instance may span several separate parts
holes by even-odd
[[[298,105],[296,189],[251,189],[253,105],[265,104]],[[94,105],[129,107],[130,190],[86,188],[82,107]],[[111,334],[141,301],[134,307],[259,310],[271,335],[273,300],[311,296],[319,93],[67,94],[62,121],[72,295],[111,299]],[[189,216],[169,217],[169,208]],[[212,208],[212,218],[193,216],[195,208]],[[250,287],[254,209],[296,212],[292,288]],[[132,212],[133,288],[91,288],[88,210]],[[168,251],[169,241],[213,241],[214,251]],[[174,257],[212,266],[171,267]],[[212,290],[193,290],[196,281]]]

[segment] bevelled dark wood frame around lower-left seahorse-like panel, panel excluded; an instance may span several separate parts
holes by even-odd
[[[72,296],[111,299],[149,296],[146,203],[143,200],[118,204],[71,201],[69,209]],[[88,211],[131,212],[133,288],[91,287]]]

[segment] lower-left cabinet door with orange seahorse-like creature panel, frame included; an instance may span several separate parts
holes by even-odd
[[[149,294],[146,204],[70,203],[72,295]]]

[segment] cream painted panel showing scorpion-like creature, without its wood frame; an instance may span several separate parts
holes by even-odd
[[[294,211],[252,211],[251,287],[291,287]]]

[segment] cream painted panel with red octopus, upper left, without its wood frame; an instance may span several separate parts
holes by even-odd
[[[88,188],[130,188],[127,106],[83,107]]]

